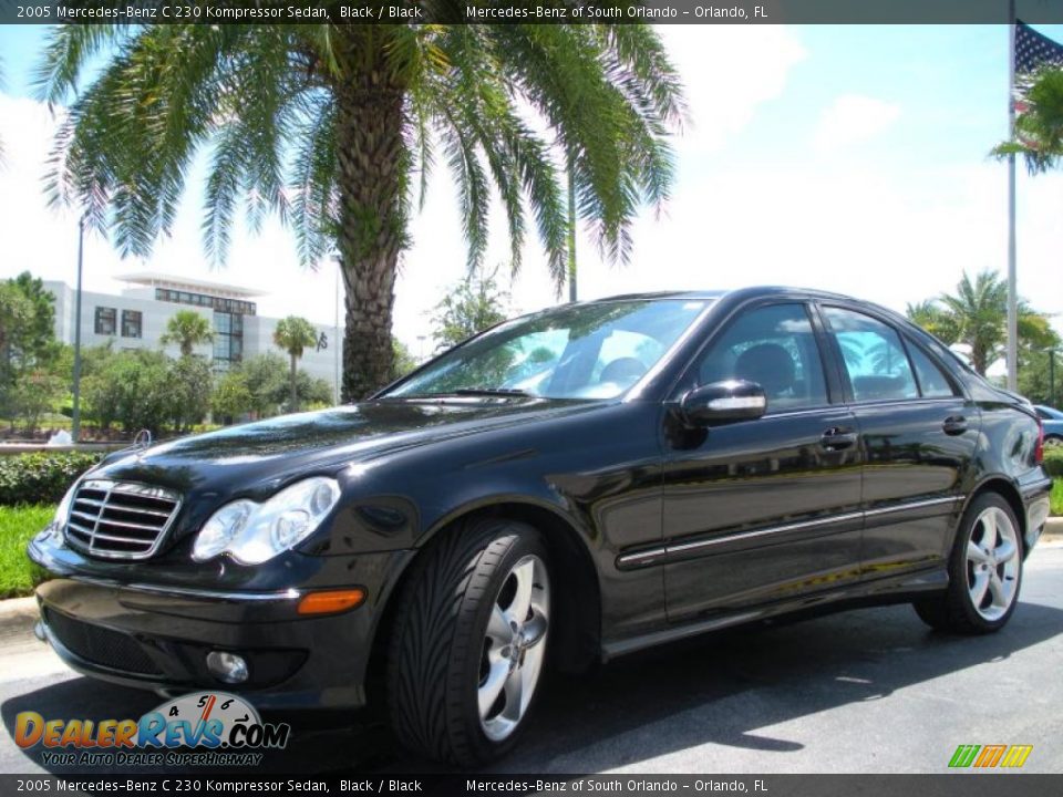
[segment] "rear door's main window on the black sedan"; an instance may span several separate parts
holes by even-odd
[[[918,398],[919,389],[897,332],[881,321],[840,308],[824,308],[845,361],[856,401]]]

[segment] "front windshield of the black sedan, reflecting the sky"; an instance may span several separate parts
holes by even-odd
[[[519,318],[452,349],[385,397],[613,398],[653,368],[708,304],[610,301]]]

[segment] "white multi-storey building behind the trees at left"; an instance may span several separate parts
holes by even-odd
[[[287,358],[274,344],[274,330],[280,319],[259,315],[251,301],[262,296],[260,291],[151,272],[118,279],[130,287],[117,296],[82,291],[83,346],[110,342],[117,350],[162,349],[158,339],[169,319],[179,310],[194,310],[214,329],[214,343],[199,346],[196,353],[209,358],[217,370],[265,352]],[[55,297],[55,337],[73,344],[76,292],[65,282],[45,281],[44,288]],[[331,324],[312,323],[318,345],[303,352],[299,368],[326,380],[334,393],[342,362],[342,331]],[[167,351],[176,356],[177,346],[172,344]]]

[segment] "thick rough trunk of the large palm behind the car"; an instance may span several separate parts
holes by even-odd
[[[395,269],[405,238],[403,92],[385,74],[363,66],[336,87],[337,248],[347,310],[343,401],[364,398],[390,381],[392,370]]]

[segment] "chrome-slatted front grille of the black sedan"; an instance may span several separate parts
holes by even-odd
[[[177,516],[180,500],[163,487],[89,479],[74,494],[66,541],[90,556],[145,559]]]

